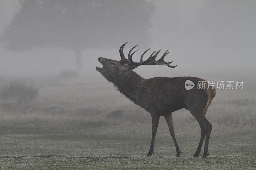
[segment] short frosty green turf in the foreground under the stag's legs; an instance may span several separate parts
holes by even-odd
[[[121,125],[108,121],[1,122],[0,169],[256,168],[255,131],[233,130],[230,133],[223,127],[213,128],[210,155],[201,159],[193,158],[200,138],[199,129],[178,126],[182,128],[176,133],[182,155],[175,158],[175,146],[167,125],[161,123],[155,154],[147,158],[150,128],[148,124]]]

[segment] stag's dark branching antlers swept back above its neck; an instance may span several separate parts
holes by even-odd
[[[134,61],[132,61],[132,55],[136,52],[136,51],[138,51],[139,49],[137,49],[136,51],[134,51],[132,54],[131,54],[131,52],[132,52],[132,50],[135,48],[135,47],[137,47],[138,45],[136,45],[136,46],[134,46],[134,47],[132,47],[132,49],[130,49],[130,51],[129,51],[129,53],[128,53],[128,57],[127,57],[127,59],[125,58],[125,56],[124,56],[124,46],[125,46],[125,44],[127,44],[128,42],[126,42],[126,43],[124,43],[123,45],[121,45],[121,47],[120,47],[120,49],[119,49],[119,53],[120,53],[120,56],[121,56],[121,62],[122,63],[126,63],[126,64],[128,64],[128,65],[136,65],[136,66],[139,66],[139,65],[166,65],[166,66],[168,66],[168,67],[171,67],[171,68],[175,68],[175,67],[177,67],[177,65],[176,66],[171,66],[170,65],[170,63],[172,63],[172,62],[165,62],[164,61],[164,57],[165,57],[165,55],[167,55],[169,52],[165,52],[164,54],[163,54],[163,56],[159,59],[159,60],[157,60],[156,61],[156,57],[157,57],[157,55],[158,55],[158,53],[161,51],[161,49],[159,50],[159,51],[154,51],[150,56],[149,56],[149,58],[147,59],[147,60],[145,60],[145,61],[143,61],[143,56],[144,56],[144,54],[146,54],[146,52],[148,52],[148,50],[150,50],[150,48],[149,49],[147,49],[142,55],[141,55],[141,57],[140,57],[140,62],[134,62]],[[156,53],[155,53],[156,52]],[[155,53],[155,54],[154,54]],[[154,54],[154,55],[153,55]]]

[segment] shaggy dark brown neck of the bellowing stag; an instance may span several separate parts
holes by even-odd
[[[141,105],[140,96],[144,86],[145,78],[140,77],[134,71],[126,71],[116,82],[116,89],[135,104]]]

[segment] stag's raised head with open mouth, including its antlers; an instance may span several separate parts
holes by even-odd
[[[108,58],[103,58],[103,57],[100,57],[98,58],[99,62],[103,65],[102,68],[100,67],[96,67],[96,70],[99,71],[102,76],[104,76],[108,81],[110,82],[113,82],[116,80],[117,77],[119,76],[122,76],[123,74],[126,74],[128,71],[130,70],[133,70],[135,69],[136,67],[140,66],[140,65],[166,65],[168,67],[171,67],[171,68],[175,68],[177,67],[176,66],[171,66],[170,63],[172,62],[165,62],[164,61],[164,57],[165,55],[167,55],[169,52],[165,52],[163,54],[163,56],[156,61],[156,57],[158,55],[158,53],[160,52],[159,51],[154,51],[147,60],[143,61],[143,56],[145,55],[145,53],[150,50],[147,49],[140,57],[140,62],[134,62],[132,60],[132,55],[138,51],[134,51],[132,54],[132,50],[137,47],[137,46],[134,46],[132,47],[132,49],[129,51],[128,53],[128,57],[127,59],[125,58],[124,56],[124,52],[123,52],[123,49],[124,49],[124,46],[125,44],[127,44],[128,42],[124,43],[123,45],[121,45],[120,49],[119,49],[119,53],[120,53],[120,56],[121,56],[121,60],[120,61],[117,61],[117,60],[111,60],[111,59],[108,59]]]

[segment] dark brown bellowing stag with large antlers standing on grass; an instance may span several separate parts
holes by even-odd
[[[152,117],[152,138],[147,156],[154,154],[154,143],[156,138],[156,131],[159,124],[160,116],[164,116],[172,139],[176,147],[176,157],[180,157],[180,147],[177,143],[172,112],[185,108],[196,118],[201,129],[201,138],[194,154],[194,157],[201,155],[202,144],[204,144],[204,154],[202,158],[206,158],[208,153],[209,140],[212,131],[212,124],[206,119],[206,111],[210,106],[212,99],[216,95],[214,87],[201,89],[196,88],[199,81],[205,80],[197,77],[155,77],[155,78],[142,78],[136,72],[132,71],[141,65],[166,65],[170,68],[176,66],[170,65],[172,62],[165,62],[164,57],[169,53],[166,51],[159,60],[156,60],[159,51],[154,51],[147,60],[143,61],[143,56],[148,52],[147,49],[140,57],[140,62],[134,62],[132,50],[137,46],[131,48],[128,53],[127,59],[124,56],[124,46],[128,42],[121,45],[119,53],[121,60],[112,60],[100,57],[99,62],[103,67],[96,67],[96,70],[106,78],[109,82],[113,83],[116,89],[121,92],[125,97],[131,100],[136,105],[148,111]],[[131,53],[132,52],[132,53]],[[185,89],[186,80],[190,80],[195,84],[190,90]],[[207,86],[207,82],[205,81]]]

